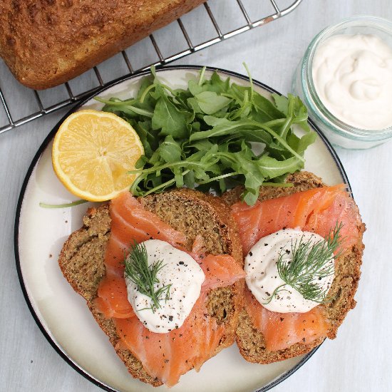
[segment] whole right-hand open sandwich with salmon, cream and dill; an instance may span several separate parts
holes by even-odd
[[[244,359],[282,361],[336,331],[356,301],[363,253],[358,207],[344,184],[309,172],[288,188],[263,187],[252,207],[227,192],[244,251],[244,309],[237,344]]]

